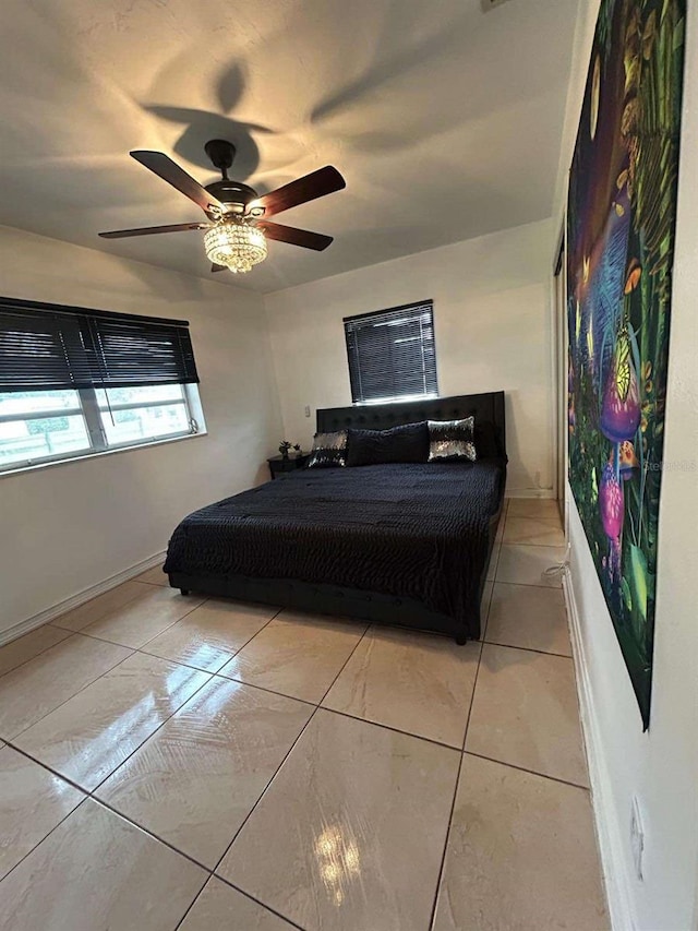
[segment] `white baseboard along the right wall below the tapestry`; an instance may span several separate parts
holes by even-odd
[[[597,842],[605,884],[606,902],[613,931],[635,931],[630,892],[626,879],[621,828],[609,789],[610,779],[598,730],[589,667],[587,666],[579,611],[569,566],[563,576],[563,590],[571,634],[573,657],[577,679],[577,694],[593,808]]]

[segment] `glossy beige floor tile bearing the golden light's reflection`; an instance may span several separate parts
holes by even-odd
[[[320,709],[216,872],[302,928],[428,928],[459,757]]]

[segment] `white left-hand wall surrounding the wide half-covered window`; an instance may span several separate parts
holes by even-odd
[[[266,478],[281,435],[262,298],[0,227],[0,294],[191,322],[208,435],[0,476],[0,635],[164,550]]]

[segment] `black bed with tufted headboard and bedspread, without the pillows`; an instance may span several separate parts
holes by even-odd
[[[480,636],[504,500],[504,392],[317,410],[317,431],[476,418],[495,447],[470,463],[298,469],[190,514],[170,585],[315,613]]]

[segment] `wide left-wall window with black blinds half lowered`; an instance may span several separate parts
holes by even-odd
[[[185,321],[0,298],[0,472],[198,431]]]

